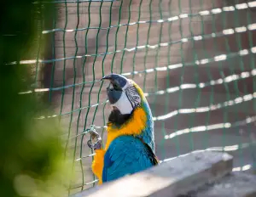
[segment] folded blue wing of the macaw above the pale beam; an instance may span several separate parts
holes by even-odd
[[[151,156],[138,138],[121,136],[114,139],[104,156],[102,181],[112,181],[154,166]]]

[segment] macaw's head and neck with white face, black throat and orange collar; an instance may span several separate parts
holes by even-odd
[[[119,133],[141,136],[154,149],[154,122],[142,89],[119,74],[104,76],[102,80],[109,82],[107,94],[112,110],[108,125],[111,129],[114,126]]]

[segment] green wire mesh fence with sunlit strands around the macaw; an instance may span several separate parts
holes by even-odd
[[[90,188],[93,152],[88,128],[102,138],[108,100],[102,76],[132,78],[154,115],[160,160],[195,149],[228,151],[234,170],[255,170],[256,1],[56,1],[42,37],[51,36],[49,93],[77,179],[70,192]]]

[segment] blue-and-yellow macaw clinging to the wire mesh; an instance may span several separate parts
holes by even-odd
[[[137,84],[125,76],[110,74],[108,100],[113,110],[108,117],[105,149],[96,149],[92,172],[99,184],[158,165],[154,155],[154,121],[148,101]]]

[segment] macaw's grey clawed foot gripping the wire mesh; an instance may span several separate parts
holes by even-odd
[[[87,141],[87,145],[90,149],[102,149],[102,138],[99,133],[96,132],[95,126],[90,126],[86,129],[86,132],[90,133],[90,139]]]

